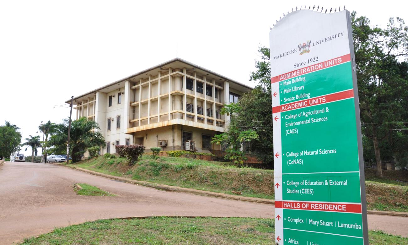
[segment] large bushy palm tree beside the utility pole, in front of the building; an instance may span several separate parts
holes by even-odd
[[[62,121],[51,129],[49,145],[53,145],[56,149],[67,148],[69,119]],[[73,162],[81,160],[89,147],[106,147],[105,139],[98,129],[100,129],[98,122],[88,121],[85,117],[72,121],[69,147]]]

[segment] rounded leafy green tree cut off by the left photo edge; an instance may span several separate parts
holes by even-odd
[[[10,124],[8,124],[10,125]],[[0,156],[2,158],[10,157],[11,154],[20,150],[21,133],[18,132],[18,127],[0,126]]]

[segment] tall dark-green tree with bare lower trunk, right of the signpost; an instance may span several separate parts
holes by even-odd
[[[359,89],[360,113],[364,135],[373,143],[377,176],[382,177],[384,156],[395,149],[386,143],[392,134],[406,135],[406,69],[408,27],[390,18],[385,29],[370,27],[370,20],[351,14]]]

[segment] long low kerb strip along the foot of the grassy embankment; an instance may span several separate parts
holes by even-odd
[[[246,197],[246,196],[234,196],[234,195],[218,193],[218,192],[208,192],[208,191],[202,191],[202,190],[191,189],[191,188],[156,184],[156,183],[151,183],[151,182],[147,182],[147,181],[131,180],[129,178],[124,178],[124,177],[120,177],[120,176],[113,176],[113,175],[110,175],[110,174],[103,174],[103,173],[99,173],[99,172],[92,171],[92,170],[89,170],[89,169],[83,169],[83,168],[80,168],[80,167],[67,166],[67,165],[63,165],[63,164],[60,164],[60,163],[52,163],[52,164],[62,166],[62,167],[69,167],[71,169],[79,170],[79,171],[82,171],[82,172],[85,172],[85,173],[88,173],[88,174],[93,174],[93,175],[101,176],[101,177],[104,177],[104,178],[119,180],[119,181],[123,181],[123,182],[126,182],[126,183],[131,183],[131,184],[135,184],[135,185],[142,185],[142,186],[146,186],[146,187],[152,187],[152,188],[163,190],[163,191],[184,192],[184,193],[196,194],[196,195],[201,195],[201,196],[213,196],[213,197],[225,198],[225,199],[230,199],[230,200],[239,200],[239,201],[246,201],[246,202],[252,202],[252,203],[264,203],[264,204],[275,205],[275,200],[269,200],[269,199],[264,199],[264,198],[256,198],[256,197]],[[367,214],[408,217],[408,213],[403,213],[403,212],[367,210]]]

